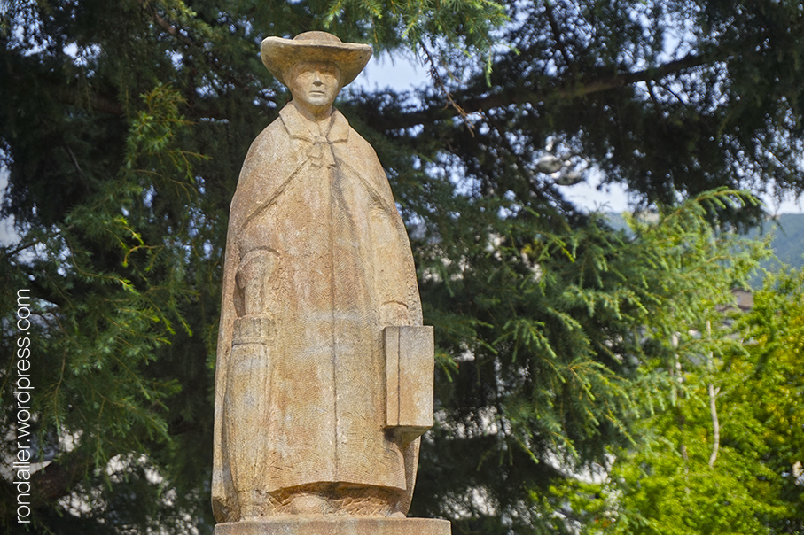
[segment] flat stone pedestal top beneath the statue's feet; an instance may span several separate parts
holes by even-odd
[[[449,521],[433,518],[277,517],[219,523],[215,535],[451,535]]]

